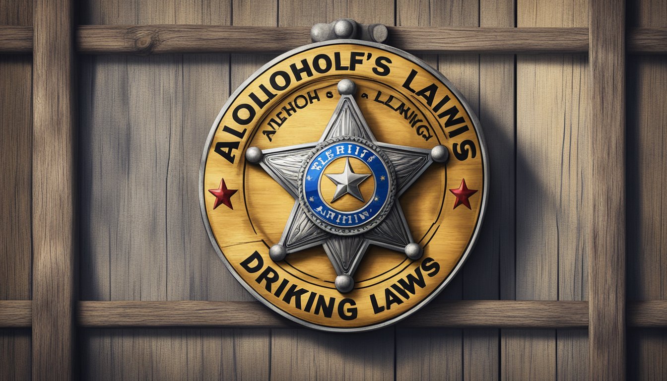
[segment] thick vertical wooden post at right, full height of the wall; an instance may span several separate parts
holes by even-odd
[[[625,357],[625,1],[590,0],[591,380],[622,380]]]

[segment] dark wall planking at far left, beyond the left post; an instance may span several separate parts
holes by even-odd
[[[32,25],[32,0],[0,0],[0,25]],[[32,57],[0,55],[0,300],[32,298]],[[31,330],[0,330],[0,380],[31,377]]]

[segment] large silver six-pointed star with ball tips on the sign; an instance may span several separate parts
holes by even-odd
[[[412,238],[398,198],[434,161],[444,163],[448,159],[448,150],[444,145],[422,149],[378,141],[354,99],[355,91],[356,85],[350,79],[338,83],[341,98],[319,141],[263,151],[249,147],[245,152],[248,161],[259,163],[295,199],[283,235],[269,249],[271,259],[280,261],[289,253],[323,245],[338,274],[334,284],[342,293],[354,288],[352,276],[371,244],[403,252],[413,260],[422,256],[422,247]],[[368,141],[382,151],[382,155],[389,161],[386,164],[390,165],[394,173],[392,181],[396,181],[396,188],[391,194],[392,199],[385,203],[387,212],[368,221],[363,229],[340,230],[326,226],[317,221],[313,210],[308,210],[305,205],[307,202],[303,199],[305,196],[301,187],[303,179],[299,177],[303,173],[304,162],[313,155],[319,143],[331,139]],[[327,174],[327,177],[336,183],[336,194],[331,202],[346,193],[364,201],[359,185],[370,174],[354,173],[349,159],[343,173]],[[388,180],[381,179],[383,182]]]

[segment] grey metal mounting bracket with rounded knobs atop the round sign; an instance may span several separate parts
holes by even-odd
[[[360,24],[353,19],[338,19],[332,23],[319,23],[310,29],[313,42],[332,39],[360,39],[384,43],[389,31],[384,24]]]

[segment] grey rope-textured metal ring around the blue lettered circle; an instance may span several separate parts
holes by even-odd
[[[387,202],[385,202],[382,206],[381,212],[376,214],[376,216],[369,222],[366,222],[366,224],[362,224],[356,228],[338,228],[337,226],[329,225],[320,220],[317,216],[315,216],[315,214],[313,214],[313,211],[310,210],[310,206],[305,201],[305,192],[303,191],[303,176],[305,175],[305,170],[308,167],[311,159],[329,145],[340,143],[341,141],[355,141],[356,143],[362,143],[363,145],[373,149],[382,160],[382,163],[384,163],[384,166],[387,168],[387,172],[390,175],[389,194],[387,195]],[[305,211],[305,215],[308,216],[308,218],[314,222],[318,228],[329,233],[337,234],[338,236],[352,236],[354,234],[368,232],[368,230],[375,228],[378,226],[378,224],[380,224],[380,222],[384,220],[387,214],[389,214],[392,206],[394,206],[394,202],[396,202],[396,172],[394,171],[394,165],[392,165],[392,162],[389,160],[389,157],[387,157],[386,153],[382,151],[382,148],[362,137],[337,136],[332,137],[326,141],[322,141],[321,143],[315,145],[313,150],[308,153],[305,159],[303,159],[303,163],[301,163],[301,168],[299,169],[299,204],[301,204],[301,208],[303,208]]]

